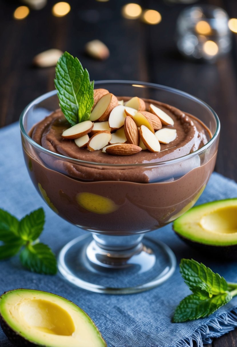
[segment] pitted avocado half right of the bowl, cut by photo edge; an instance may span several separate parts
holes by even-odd
[[[174,221],[173,229],[206,256],[237,260],[237,198],[195,206]]]

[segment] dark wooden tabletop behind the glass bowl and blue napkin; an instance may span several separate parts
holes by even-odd
[[[128,1],[70,0],[71,12],[56,18],[49,0],[45,8],[14,20],[18,1],[0,2],[0,126],[19,119],[24,107],[54,89],[55,68],[35,68],[32,59],[46,49],[59,48],[77,56],[91,79],[128,79],[178,88],[204,100],[221,121],[219,153],[215,170],[237,180],[237,34],[231,52],[215,64],[183,59],[174,42],[175,23],[185,5],[138,1],[144,8],[161,12],[159,25],[146,25],[121,16]],[[199,3],[199,1],[197,2]],[[237,17],[236,0],[206,0]],[[84,54],[84,44],[100,39],[110,57],[97,61]],[[213,341],[209,347],[237,346],[237,330]]]

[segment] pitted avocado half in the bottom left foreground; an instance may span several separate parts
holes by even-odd
[[[0,324],[15,346],[107,346],[80,307],[45,291],[21,288],[2,294]]]

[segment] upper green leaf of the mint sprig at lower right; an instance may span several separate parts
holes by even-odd
[[[193,259],[181,259],[180,273],[191,291],[200,283],[208,284],[213,295],[224,293],[228,288],[223,277]]]

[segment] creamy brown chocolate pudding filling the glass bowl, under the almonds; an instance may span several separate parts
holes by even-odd
[[[61,110],[33,127],[33,141],[51,154],[31,146],[24,151],[27,167],[35,187],[61,217],[87,230],[128,235],[157,229],[197,201],[214,169],[218,141],[209,151],[184,158],[210,140],[210,130],[171,105],[144,101],[147,109],[152,103],[171,117],[169,128],[177,131],[159,152],[120,156],[79,148],[62,138],[70,125]]]

